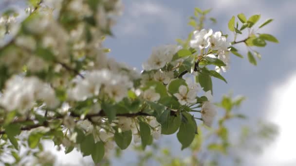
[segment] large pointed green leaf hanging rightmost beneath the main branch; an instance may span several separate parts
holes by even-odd
[[[182,144],[182,150],[187,148],[195,137],[195,133],[197,132],[196,122],[189,113],[182,114],[182,123],[179,128],[179,132],[177,133],[177,138],[179,142]]]

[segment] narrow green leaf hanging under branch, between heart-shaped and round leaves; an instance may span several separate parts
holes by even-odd
[[[150,126],[146,123],[141,121],[139,123],[140,126],[140,137],[142,140],[142,148],[145,149],[147,145],[149,145],[152,140]]]

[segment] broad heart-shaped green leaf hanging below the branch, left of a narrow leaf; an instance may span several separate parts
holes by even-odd
[[[120,128],[118,128],[114,134],[114,140],[120,149],[127,149],[131,142],[132,138],[131,131],[122,132]]]

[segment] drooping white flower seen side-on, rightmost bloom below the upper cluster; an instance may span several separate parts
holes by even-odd
[[[217,114],[215,110],[215,106],[212,103],[210,103],[210,101],[203,102],[201,114],[202,114],[203,123],[206,126],[211,127],[214,117]]]

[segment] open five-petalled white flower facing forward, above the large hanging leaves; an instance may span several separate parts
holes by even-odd
[[[189,89],[187,92],[187,87],[185,85],[181,85],[179,87],[179,93],[175,93],[174,96],[178,99],[181,105],[194,104],[196,103],[196,90]]]

